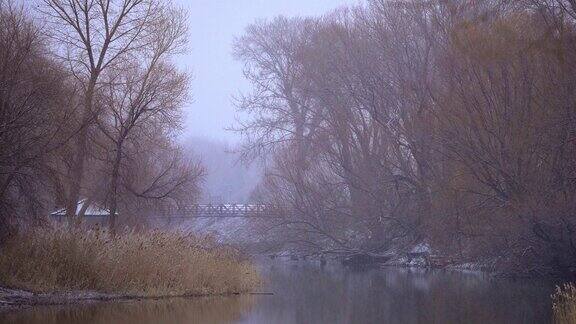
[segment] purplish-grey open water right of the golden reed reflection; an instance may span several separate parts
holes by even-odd
[[[274,298],[259,298],[255,323],[548,323],[551,285],[479,274],[399,268],[352,272],[271,264]]]

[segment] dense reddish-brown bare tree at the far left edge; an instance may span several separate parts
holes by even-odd
[[[47,48],[23,7],[0,1],[0,234],[44,212],[52,155],[72,136],[74,89]]]

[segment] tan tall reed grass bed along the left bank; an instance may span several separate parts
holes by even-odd
[[[253,265],[184,233],[35,229],[0,247],[0,284],[37,292],[92,290],[138,296],[247,292]]]

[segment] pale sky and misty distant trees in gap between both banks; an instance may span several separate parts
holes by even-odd
[[[190,71],[192,101],[184,108],[181,141],[206,166],[203,201],[245,202],[260,179],[261,167],[237,163],[226,153],[239,142],[231,128],[239,116],[234,98],[250,91],[242,62],[232,56],[232,43],[257,20],[284,16],[318,16],[357,0],[177,0],[188,10],[189,51],[178,64]],[[192,152],[189,152],[192,153]]]

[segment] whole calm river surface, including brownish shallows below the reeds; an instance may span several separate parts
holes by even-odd
[[[0,323],[549,323],[550,285],[478,274],[263,262],[272,296],[41,307]]]

